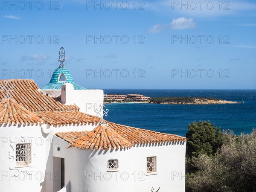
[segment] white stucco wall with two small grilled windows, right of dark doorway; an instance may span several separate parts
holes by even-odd
[[[65,183],[70,191],[185,191],[185,142],[136,145],[126,150],[79,150],[63,140],[53,155],[65,159]],[[147,175],[147,157],[157,157],[157,174]],[[118,172],[108,172],[107,162],[119,160]],[[67,166],[66,166],[67,165]]]

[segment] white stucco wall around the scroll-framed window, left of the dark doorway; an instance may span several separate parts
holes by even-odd
[[[55,172],[58,163],[53,158],[52,146],[58,146],[60,139],[53,136],[57,132],[90,131],[96,126],[93,123],[0,126],[0,191],[57,191],[54,183],[59,179]],[[32,144],[32,166],[15,167],[15,146],[22,142]]]

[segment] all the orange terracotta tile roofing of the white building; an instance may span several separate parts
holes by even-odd
[[[3,80],[0,80],[0,83]],[[56,98],[44,95],[38,91],[33,80],[9,80],[15,84],[10,92],[12,99],[3,99],[5,92],[0,90],[1,109],[0,124],[3,123],[39,123],[50,125],[71,125],[97,123],[99,117],[79,112],[76,105],[62,105]],[[7,86],[7,88],[9,88]],[[186,141],[185,137],[164,134],[146,129],[133,128],[107,122],[93,131],[57,133],[75,147],[83,149],[127,148],[136,143],[162,143],[166,141]]]

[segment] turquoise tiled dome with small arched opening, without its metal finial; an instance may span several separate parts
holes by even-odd
[[[74,86],[75,90],[83,90],[86,89],[84,87],[81,87],[78,84],[75,84],[71,73],[69,70],[67,70],[65,67],[58,67],[52,74],[51,81],[45,85],[44,87],[41,87],[41,89],[47,89],[47,90],[61,90],[61,86],[64,83],[71,83]]]

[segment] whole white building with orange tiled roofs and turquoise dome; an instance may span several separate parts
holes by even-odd
[[[64,56],[44,87],[0,80],[0,191],[185,191],[186,138],[106,121],[103,90],[76,84]]]

